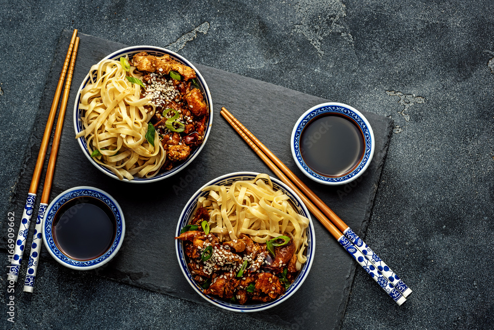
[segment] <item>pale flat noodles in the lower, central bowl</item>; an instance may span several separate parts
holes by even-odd
[[[294,210],[283,191],[273,189],[269,175],[258,174],[253,180],[236,181],[231,186],[207,186],[203,191],[209,194],[199,198],[197,208],[206,207],[210,233],[215,233],[220,242],[236,240],[240,234],[257,243],[289,236],[300,270],[307,260],[303,252],[309,219]]]

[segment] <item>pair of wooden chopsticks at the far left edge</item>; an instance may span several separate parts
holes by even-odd
[[[53,97],[53,102],[51,103],[50,113],[48,115],[48,120],[44,128],[43,139],[41,140],[40,151],[38,153],[38,159],[36,161],[33,178],[31,180],[31,186],[29,188],[26,206],[24,206],[24,211],[22,214],[22,220],[17,235],[16,245],[14,248],[14,255],[13,258],[10,260],[10,267],[9,267],[7,280],[17,282],[17,279],[19,277],[19,268],[22,262],[22,256],[26,245],[26,237],[29,232],[29,225],[31,224],[31,217],[33,215],[33,209],[36,202],[36,194],[38,192],[38,186],[40,183],[41,171],[43,169],[43,164],[45,161],[46,150],[48,148],[48,144],[50,141],[50,135],[53,128],[53,122],[55,121],[55,115],[57,113],[60,95],[62,94],[63,84],[65,81],[65,77],[67,76],[67,81],[65,82],[65,87],[63,88],[62,102],[60,104],[60,111],[58,114],[55,134],[51,146],[51,152],[48,161],[48,167],[46,170],[46,176],[44,179],[40,208],[38,210],[38,217],[36,219],[36,228],[34,231],[33,241],[31,245],[31,254],[29,258],[28,270],[26,273],[26,279],[24,281],[24,291],[28,291],[28,292],[33,292],[33,288],[34,288],[36,270],[38,266],[38,259],[40,257],[40,250],[42,244],[42,235],[41,235],[42,222],[50,197],[51,183],[53,180],[53,173],[55,170],[58,147],[62,135],[65,110],[67,109],[67,101],[69,100],[69,91],[72,83],[72,74],[74,72],[74,65],[76,62],[78,47],[79,47],[79,37],[77,37],[77,29],[76,29],[72,34],[72,39],[69,44],[69,49],[67,50],[67,55],[65,56],[62,72],[60,74],[57,88],[55,90],[55,95]]]

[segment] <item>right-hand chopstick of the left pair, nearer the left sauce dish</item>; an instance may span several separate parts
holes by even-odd
[[[72,83],[72,74],[74,72],[74,66],[76,64],[77,50],[79,48],[79,37],[76,38],[74,43],[74,51],[72,52],[72,58],[70,60],[69,72],[67,74],[67,81],[65,82],[65,88],[62,96],[62,103],[60,104],[60,111],[58,114],[57,127],[55,128],[55,135],[53,137],[53,143],[51,145],[50,159],[48,161],[48,168],[46,169],[46,176],[44,178],[43,193],[41,195],[40,208],[38,210],[38,218],[36,220],[36,227],[33,235],[33,244],[31,246],[31,254],[29,256],[29,266],[26,272],[26,279],[24,280],[24,291],[33,292],[34,282],[36,279],[36,271],[38,269],[38,260],[40,258],[40,251],[42,245],[42,224],[44,214],[48,206],[50,198],[51,183],[53,181],[53,173],[55,171],[55,164],[57,160],[58,147],[60,146],[60,138],[62,136],[63,122],[65,118],[65,110],[67,110],[67,101],[69,100],[70,86]]]

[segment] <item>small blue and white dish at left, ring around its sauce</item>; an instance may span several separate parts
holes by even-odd
[[[117,221],[117,232],[111,247],[105,253],[103,253],[103,255],[91,260],[75,260],[70,256],[64,254],[53,241],[53,220],[55,218],[57,210],[60,207],[75,198],[84,196],[96,198],[110,207]],[[68,268],[89,270],[104,265],[105,263],[110,261],[119,251],[125,236],[124,213],[122,212],[122,209],[120,208],[117,201],[115,201],[113,197],[111,197],[103,190],[86,186],[74,187],[61,193],[50,203],[43,219],[42,233],[44,246],[56,261]]]

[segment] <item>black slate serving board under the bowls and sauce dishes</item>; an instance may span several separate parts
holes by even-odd
[[[44,123],[71,34],[72,31],[63,31],[58,43],[38,120],[32,132],[32,148],[27,152],[15,196],[9,207],[10,210],[16,211],[16,225],[20,221],[20,210],[25,203]],[[244,170],[273,175],[221,118],[219,110],[223,106],[263,141],[357,234],[365,237],[391,135],[390,119],[363,112],[371,123],[376,140],[370,167],[361,178],[345,186],[320,185],[306,178],[296,167],[291,157],[289,137],[293,125],[303,112],[328,100],[204,65],[196,65],[208,83],[214,106],[212,130],[205,148],[189,167],[175,177],[146,185],[119,182],[94,168],[82,155],[74,138],[72,107],[79,84],[90,66],[125,45],[81,33],[79,37],[79,53],[51,198],[68,188],[87,185],[105,190],[122,206],[127,228],[124,244],[118,255],[105,267],[96,270],[96,274],[208,304],[186,282],[176,260],[173,233],[182,207],[197,189],[217,176]],[[358,109],[358,105],[352,106]],[[41,188],[39,194],[41,195]],[[35,209],[38,209],[38,206],[35,206]],[[293,329],[316,326],[333,329],[341,325],[356,263],[315,218],[313,221],[317,239],[316,254],[311,272],[302,288],[285,303],[268,311],[248,315]],[[31,227],[29,238],[34,226]],[[2,235],[2,247],[5,247],[5,237],[6,235]],[[30,246],[29,242],[27,246]],[[42,260],[53,262],[44,248]],[[21,267],[21,274],[24,273],[25,263]],[[382,298],[386,299],[384,292]]]

